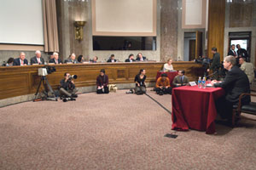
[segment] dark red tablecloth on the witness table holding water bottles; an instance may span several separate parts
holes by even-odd
[[[172,89],[172,129],[196,129],[215,133],[215,100],[224,95],[223,88],[183,86]]]

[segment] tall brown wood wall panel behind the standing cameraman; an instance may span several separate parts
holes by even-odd
[[[223,60],[225,0],[209,0],[208,17],[208,56],[212,58],[211,51],[215,47],[220,54],[220,59]]]

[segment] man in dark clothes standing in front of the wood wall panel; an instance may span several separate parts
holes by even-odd
[[[210,68],[207,69],[207,72],[209,72],[210,70],[212,70],[212,72],[216,72],[216,74],[214,74],[212,76],[213,79],[218,80],[218,70],[219,70],[219,66],[220,66],[220,56],[217,52],[217,48],[212,48],[212,64],[210,66]]]

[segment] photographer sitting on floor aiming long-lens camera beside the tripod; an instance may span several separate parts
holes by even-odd
[[[70,98],[71,100],[75,100],[73,98],[77,98],[78,95],[76,94],[78,92],[78,89],[75,87],[73,79],[75,79],[77,76],[73,75],[71,76],[68,72],[65,72],[64,79],[61,80],[61,87],[60,87],[60,94],[64,102],[67,101],[66,98]]]

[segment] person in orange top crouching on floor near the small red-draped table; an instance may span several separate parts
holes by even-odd
[[[167,77],[166,73],[163,73],[161,77],[159,77],[155,83],[155,91],[156,94],[172,94],[172,88],[170,85],[170,80]]]

